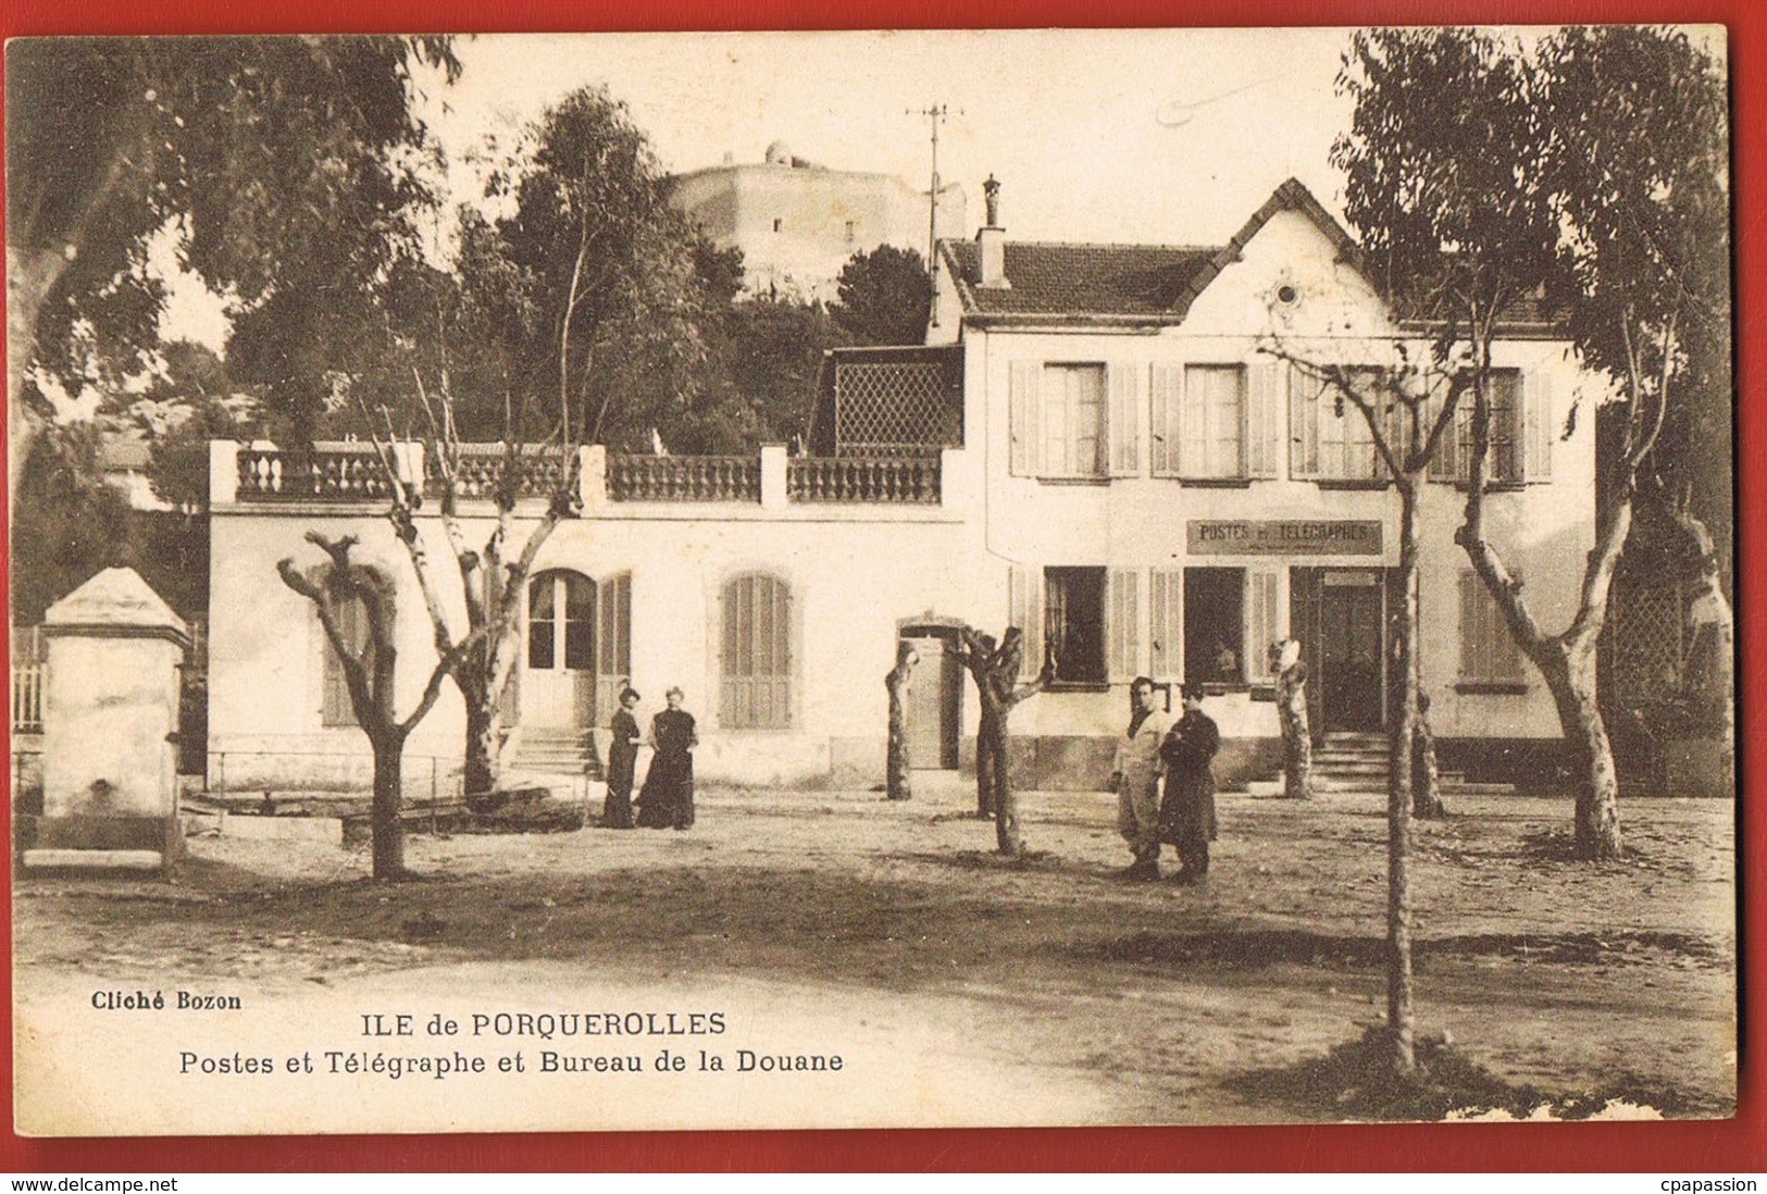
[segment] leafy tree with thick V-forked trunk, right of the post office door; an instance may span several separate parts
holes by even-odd
[[[1467,373],[1472,443],[1456,540],[1557,705],[1574,759],[1576,850],[1585,858],[1610,858],[1620,853],[1619,777],[1596,699],[1596,648],[1631,525],[1638,470],[1663,422],[1654,412],[1666,410],[1666,392],[1634,390],[1619,399],[1634,406],[1638,435],[1604,482],[1608,500],[1597,510],[1596,546],[1576,611],[1562,631],[1550,632],[1537,622],[1486,525],[1491,344],[1516,304],[1541,291],[1566,295],[1583,286],[1587,277],[1578,277],[1576,261],[1589,247],[1578,246],[1601,238],[1599,223],[1583,223],[1601,205],[1569,203],[1562,182],[1560,159],[1581,150],[1560,131],[1585,120],[1583,104],[1592,97],[1555,90],[1557,53],[1564,51],[1548,46],[1528,58],[1479,30],[1359,34],[1341,74],[1355,113],[1332,157],[1348,177],[1346,215],[1399,314],[1428,323],[1437,360]],[[1643,85],[1645,78],[1636,81]],[[1558,106],[1558,95],[1567,102]],[[1633,127],[1647,110],[1673,118],[1663,104],[1643,99],[1636,111],[1624,113],[1622,136],[1652,140],[1657,132],[1665,148],[1680,141],[1679,129]],[[1665,205],[1663,214],[1670,210]],[[1640,265],[1634,258],[1620,272]],[[1650,281],[1659,283],[1661,274]],[[1663,360],[1670,360],[1673,343],[1665,343]],[[1583,334],[1578,346],[1589,348]]]

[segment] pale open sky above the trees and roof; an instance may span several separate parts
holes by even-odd
[[[1018,30],[896,34],[601,34],[463,39],[452,87],[419,81],[456,200],[472,159],[583,85],[624,99],[668,171],[758,162],[783,141],[834,170],[924,189],[1002,182],[1009,238],[1219,244],[1288,177],[1338,207],[1327,162],[1348,122],[1334,94],[1348,30]],[[163,256],[163,263],[170,254]],[[163,323],[216,348],[219,300],[173,283]]]

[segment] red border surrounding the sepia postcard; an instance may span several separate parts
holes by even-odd
[[[1739,510],[1762,509],[1767,489],[1767,426],[1758,392],[1767,385],[1767,321],[1762,224],[1767,171],[1767,5],[1756,0],[1239,0],[1217,11],[1157,0],[283,0],[274,12],[239,0],[7,0],[0,35],[23,34],[293,34],[293,32],[551,32],[551,30],[758,30],[758,28],[970,28],[1163,26],[1163,25],[1366,25],[1366,23],[1560,23],[1686,21],[1730,28],[1733,87]],[[1739,526],[1737,592],[1758,599],[1767,521]],[[4,565],[0,565],[4,567]],[[1742,601],[1740,742],[1744,790],[1767,779],[1760,708],[1767,698],[1767,625],[1758,601]],[[1742,998],[1755,1032],[1742,1039],[1735,1120],[1714,1123],[1422,1125],[1422,1127],[1226,1127],[1037,1129],[880,1132],[617,1132],[581,1136],[350,1136],[214,1139],[19,1139],[11,1132],[12,1028],[0,1024],[5,1129],[0,1169],[14,1173],[201,1171],[1767,1171],[1767,1070],[1760,1016],[1767,1000],[1763,941],[1767,807],[1742,804],[1744,864]],[[11,888],[0,885],[11,922]],[[4,980],[11,1007],[11,970]]]

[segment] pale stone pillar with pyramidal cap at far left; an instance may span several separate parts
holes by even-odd
[[[42,821],[25,865],[170,865],[189,631],[133,569],[106,569],[49,606],[42,634]]]

